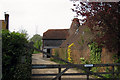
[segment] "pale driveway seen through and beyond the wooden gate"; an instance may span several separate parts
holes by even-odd
[[[49,59],[43,58],[42,54],[33,54],[32,55],[32,64],[57,64]],[[62,69],[63,70],[63,69]],[[32,69],[32,74],[44,74],[44,73],[58,73],[58,69]],[[66,73],[78,73],[77,70],[69,69]],[[32,78],[54,78],[55,76],[43,76],[43,77],[32,77]],[[86,76],[62,76],[62,78],[86,78]],[[40,79],[41,80],[41,79]],[[43,80],[43,79],[42,79]],[[62,79],[63,80],[63,79]],[[71,80],[71,79],[69,79]],[[77,79],[75,79],[77,80]],[[82,79],[83,80],[83,79]]]

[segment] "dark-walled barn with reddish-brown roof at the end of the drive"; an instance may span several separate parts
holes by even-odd
[[[68,37],[69,29],[49,29],[43,33],[43,51],[51,53],[53,48],[59,48]],[[45,57],[45,55],[43,56]],[[49,58],[49,56],[47,56]]]

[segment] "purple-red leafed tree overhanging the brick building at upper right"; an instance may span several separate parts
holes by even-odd
[[[73,4],[72,9],[81,19],[83,25],[87,25],[96,35],[96,41],[104,44],[109,50],[118,50],[120,41],[120,12],[118,2],[80,2]]]

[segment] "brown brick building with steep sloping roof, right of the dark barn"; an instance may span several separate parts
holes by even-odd
[[[52,53],[58,53],[59,57],[62,59],[66,59],[67,54],[67,48],[71,43],[74,43],[75,46],[71,47],[71,56],[74,63],[79,64],[80,58],[84,57],[85,59],[89,60],[90,57],[90,49],[88,47],[88,44],[92,41],[96,40],[96,35],[93,33],[87,26],[79,26],[79,21],[77,19],[73,20],[71,27],[69,29],[69,36],[67,39],[62,43],[60,46],[61,48],[53,49]],[[75,25],[78,24],[78,25]],[[113,38],[111,34],[108,34],[106,37],[109,41],[110,38]],[[99,39],[99,42],[103,41],[102,39]],[[115,42],[115,41],[113,41]],[[109,45],[111,45],[111,42],[108,42]],[[107,46],[109,47],[109,46]],[[102,48],[101,53],[101,63],[114,63],[113,56],[117,52],[108,50],[107,47]],[[112,45],[111,45],[112,47]],[[110,48],[111,49],[111,48]]]

